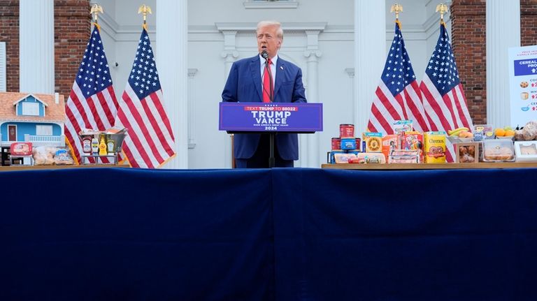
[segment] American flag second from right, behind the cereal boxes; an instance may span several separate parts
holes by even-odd
[[[373,97],[368,131],[394,133],[395,120],[413,121],[416,131],[427,131],[420,87],[406,52],[399,21],[395,22],[395,34],[386,59],[380,83]]]

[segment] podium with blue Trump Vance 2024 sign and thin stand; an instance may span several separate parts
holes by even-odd
[[[274,167],[278,133],[322,131],[322,103],[220,103],[218,129],[227,133],[269,134],[268,166]]]

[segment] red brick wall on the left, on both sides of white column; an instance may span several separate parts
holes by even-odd
[[[90,0],[55,0],[55,91],[69,96],[90,38]],[[6,42],[7,90],[19,91],[19,1],[0,0],[0,41]]]

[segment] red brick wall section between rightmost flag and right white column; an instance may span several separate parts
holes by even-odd
[[[487,123],[485,0],[453,0],[451,40],[474,124]]]

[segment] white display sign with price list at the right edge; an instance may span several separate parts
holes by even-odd
[[[509,48],[511,125],[537,119],[537,45]]]

